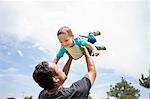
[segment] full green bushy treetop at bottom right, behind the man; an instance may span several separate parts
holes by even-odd
[[[118,82],[114,87],[110,85],[110,91],[107,95],[117,99],[138,99],[140,97],[140,90],[135,89],[123,77],[121,82]]]

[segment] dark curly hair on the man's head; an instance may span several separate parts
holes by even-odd
[[[54,70],[49,67],[48,62],[43,61],[36,65],[33,72],[33,79],[38,85],[46,90],[54,88]]]

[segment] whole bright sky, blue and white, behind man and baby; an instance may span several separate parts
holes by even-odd
[[[35,99],[42,90],[32,79],[37,63],[52,61],[60,44],[57,30],[64,25],[74,35],[87,35],[100,30],[95,45],[105,45],[93,57],[97,79],[91,89],[94,99],[106,97],[109,85],[123,76],[141,90],[140,99],[148,90],[139,86],[141,73],[150,69],[150,2],[146,0],[99,1],[0,1],[0,99],[14,96]],[[62,67],[65,55],[59,62]],[[82,57],[73,61],[68,87],[87,72]]]

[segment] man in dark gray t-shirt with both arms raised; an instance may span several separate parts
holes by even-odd
[[[87,99],[91,86],[96,78],[96,69],[93,59],[89,55],[86,48],[82,48],[88,73],[77,82],[73,83],[69,88],[64,88],[63,83],[67,78],[72,58],[69,59],[64,68],[59,68],[56,64],[41,62],[35,67],[33,79],[44,90],[39,94],[38,99]]]

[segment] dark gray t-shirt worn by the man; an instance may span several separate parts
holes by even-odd
[[[90,80],[83,77],[69,88],[60,88],[53,94],[48,93],[47,90],[42,90],[38,99],[88,99],[90,88]]]

